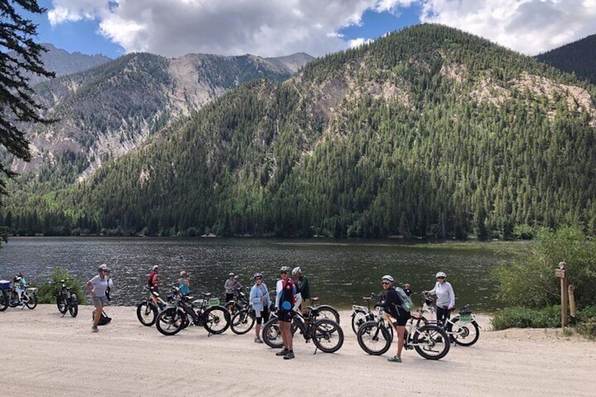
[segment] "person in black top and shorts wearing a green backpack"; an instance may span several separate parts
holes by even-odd
[[[396,289],[393,286],[395,279],[391,275],[384,275],[381,279],[385,299],[382,306],[391,315],[394,321],[391,323],[394,326],[397,334],[397,351],[395,356],[387,358],[391,363],[401,363],[401,351],[403,344],[406,341],[406,323],[410,320],[411,299],[409,299],[403,289]],[[401,291],[399,291],[401,290]],[[406,299],[408,298],[408,299]],[[409,303],[408,303],[409,301]]]

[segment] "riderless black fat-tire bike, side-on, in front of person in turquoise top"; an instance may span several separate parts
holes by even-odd
[[[169,336],[192,324],[202,325],[209,335],[225,332],[230,325],[230,313],[224,306],[219,305],[219,299],[210,298],[211,293],[202,295],[202,299],[190,301],[192,297],[180,294],[176,287],[176,297],[172,303],[157,315],[157,330]]]

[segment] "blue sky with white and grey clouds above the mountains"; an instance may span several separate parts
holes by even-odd
[[[419,23],[536,55],[596,34],[596,0],[38,0],[37,42],[117,58],[149,52],[324,56]]]

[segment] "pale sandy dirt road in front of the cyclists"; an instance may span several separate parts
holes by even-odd
[[[143,327],[136,308],[110,307],[112,324],[91,332],[91,306],[70,318],[53,305],[0,313],[5,395],[20,396],[595,396],[596,343],[561,330],[481,331],[471,347],[452,346],[442,360],[415,351],[403,363],[365,354],[342,312],[346,340],[335,354],[313,355],[294,338],[294,360],[255,344],[253,332],[207,337],[190,327],[164,337]],[[481,316],[479,323],[490,326]],[[395,346],[395,344],[394,344]],[[390,353],[394,354],[394,346]]]

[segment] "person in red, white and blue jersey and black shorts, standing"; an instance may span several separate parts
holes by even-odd
[[[276,353],[276,356],[283,356],[284,360],[291,360],[294,358],[292,318],[294,318],[294,312],[298,311],[302,297],[294,281],[290,278],[290,268],[282,266],[280,275],[281,280],[278,280],[276,284],[276,311],[283,339],[283,350]]]

